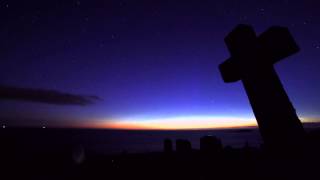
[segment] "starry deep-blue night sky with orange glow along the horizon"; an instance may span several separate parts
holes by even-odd
[[[320,2],[0,1],[1,126],[219,128],[255,124],[218,65],[237,24],[286,26],[301,51],[276,64],[304,121],[320,120]]]

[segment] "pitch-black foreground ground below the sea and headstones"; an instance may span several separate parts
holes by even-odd
[[[85,151],[81,145],[30,148],[1,134],[0,179],[319,179],[320,131],[304,152],[281,155],[249,146],[216,152],[120,153]],[[34,146],[34,145],[33,145]]]

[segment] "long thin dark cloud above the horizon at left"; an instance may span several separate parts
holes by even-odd
[[[0,85],[0,100],[29,101],[55,105],[94,104],[100,100],[97,96],[70,94],[56,90],[20,88]]]

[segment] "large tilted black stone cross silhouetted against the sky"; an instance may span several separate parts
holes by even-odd
[[[224,82],[241,80],[267,148],[297,147],[304,129],[273,64],[299,51],[289,30],[273,26],[256,36],[238,25],[226,37],[231,57],[219,65]]]

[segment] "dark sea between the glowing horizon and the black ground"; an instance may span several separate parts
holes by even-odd
[[[241,130],[192,131],[125,131],[94,129],[1,129],[1,138],[14,144],[15,150],[58,151],[81,146],[85,151],[102,154],[157,152],[163,149],[163,140],[188,139],[199,149],[199,139],[214,135],[224,146],[242,147],[245,142],[258,147],[261,138],[256,128]]]

